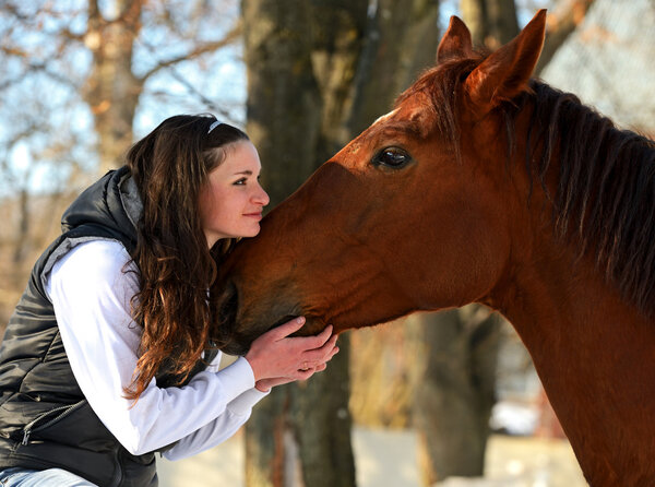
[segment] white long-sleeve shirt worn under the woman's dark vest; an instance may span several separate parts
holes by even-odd
[[[117,241],[80,243],[53,265],[46,292],[73,375],[103,424],[132,454],[179,440],[164,453],[179,460],[233,436],[265,393],[254,389],[248,360],[218,370],[218,354],[186,387],[163,389],[153,379],[135,404],[124,399],[141,340],[130,316],[139,283],[134,272],[123,272],[129,261]]]

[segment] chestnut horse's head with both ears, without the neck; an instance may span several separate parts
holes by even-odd
[[[239,242],[216,304],[241,354],[295,316],[300,334],[484,301],[503,278],[516,212],[501,105],[528,90],[540,11],[496,52],[452,17],[437,66]]]

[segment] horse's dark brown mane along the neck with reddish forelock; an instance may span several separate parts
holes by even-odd
[[[417,92],[429,96],[433,129],[454,144],[458,161],[456,100],[464,80],[484,59],[476,56],[431,69],[396,102]],[[523,109],[532,109],[525,169],[552,202],[556,236],[576,242],[580,257],[595,252],[596,265],[624,299],[655,316],[655,142],[619,130],[575,95],[531,80],[517,99],[497,108],[508,162],[516,150],[515,120]],[[555,157],[558,185],[550,194],[546,175]]]

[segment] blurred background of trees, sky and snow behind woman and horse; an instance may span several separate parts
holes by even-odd
[[[495,49],[540,8],[535,75],[653,138],[653,0],[0,1],[0,325],[66,206],[164,118],[246,128],[274,206],[433,64],[450,15]],[[586,485],[498,314],[415,314],[340,345],[225,444],[160,462],[162,485]]]

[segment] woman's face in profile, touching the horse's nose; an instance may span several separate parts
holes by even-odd
[[[249,141],[224,147],[225,161],[200,190],[199,206],[207,246],[222,238],[254,237],[269,195],[259,183],[262,165]]]

